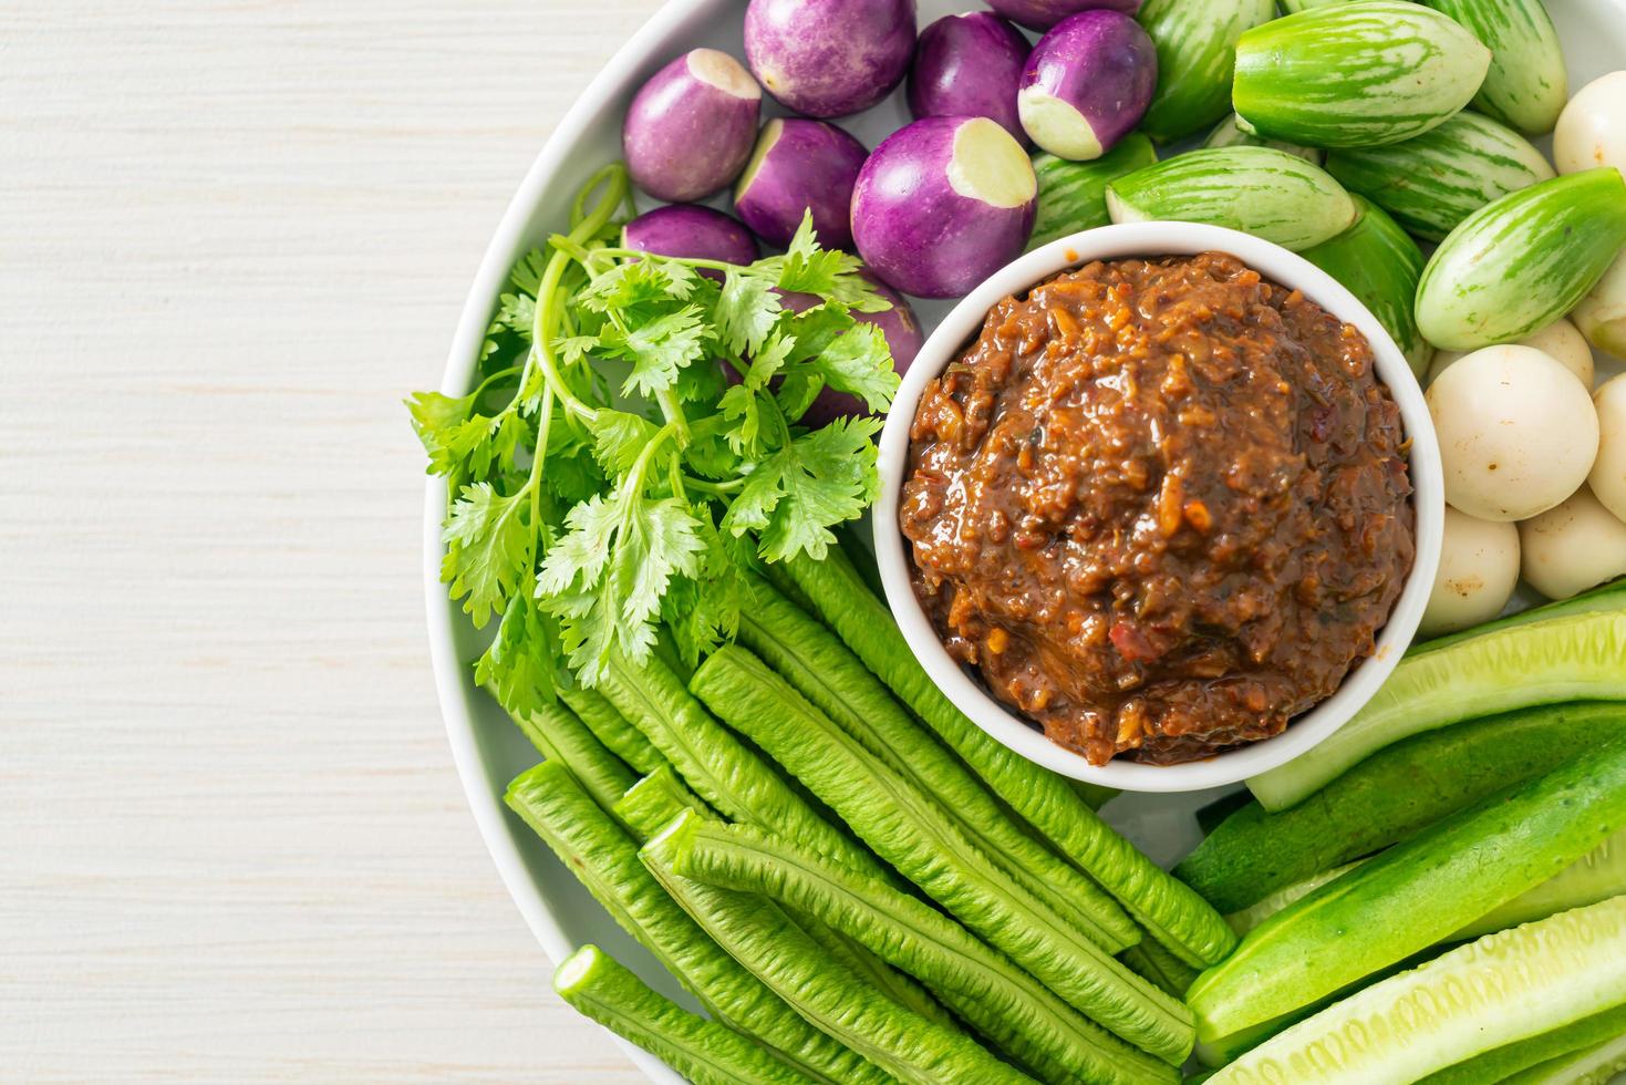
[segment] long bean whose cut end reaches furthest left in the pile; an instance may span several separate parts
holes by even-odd
[[[852,1051],[802,1020],[712,942],[637,859],[637,849],[558,761],[543,761],[507,789],[509,807],[580,878],[623,930],[735,1030],[782,1051],[815,1078],[885,1082]]]

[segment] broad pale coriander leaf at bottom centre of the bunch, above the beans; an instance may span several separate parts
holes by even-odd
[[[618,488],[566,516],[537,576],[543,605],[564,618],[571,665],[592,685],[620,647],[646,659],[655,639],[654,617],[675,576],[699,569],[699,522],[675,498],[649,498]]]

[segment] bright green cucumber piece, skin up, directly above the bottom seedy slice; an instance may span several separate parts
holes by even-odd
[[[1268,1022],[1403,960],[1626,826],[1626,739],[1494,795],[1324,885],[1192,984],[1203,1039]]]

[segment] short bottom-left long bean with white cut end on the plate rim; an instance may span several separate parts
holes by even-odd
[[[696,1085],[813,1082],[748,1036],[660,997],[597,945],[584,945],[566,956],[553,973],[553,989],[580,1013],[662,1059]]]

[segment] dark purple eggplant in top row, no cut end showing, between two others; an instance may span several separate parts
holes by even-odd
[[[1033,47],[992,11],[945,15],[920,31],[909,68],[909,112],[920,117],[989,117],[1026,140],[1016,89]]]

